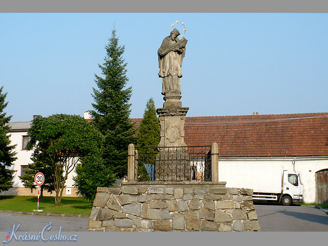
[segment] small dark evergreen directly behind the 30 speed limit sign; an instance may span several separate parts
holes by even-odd
[[[55,177],[53,169],[55,163],[53,163],[51,156],[48,156],[43,152],[33,154],[34,155],[31,158],[33,162],[29,163],[28,169],[25,171],[24,176],[19,176],[19,178],[23,182],[23,186],[25,188],[31,189],[32,192],[34,189],[36,189],[34,182],[35,174],[42,172],[45,177],[47,177],[43,185],[40,187],[40,200],[42,200],[44,190],[48,191],[49,193],[52,193],[55,190]],[[63,182],[63,180],[61,182]]]

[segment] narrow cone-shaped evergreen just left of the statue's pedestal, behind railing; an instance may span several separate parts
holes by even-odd
[[[141,120],[138,128],[136,147],[157,147],[160,140],[159,133],[160,126],[156,114],[155,102],[151,97],[147,101],[144,118]],[[139,150],[138,178],[139,180],[150,180],[145,164],[154,163],[157,149],[147,149],[148,153],[153,153],[152,155],[144,154],[141,149]]]

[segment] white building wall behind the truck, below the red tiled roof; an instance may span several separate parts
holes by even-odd
[[[220,162],[228,163],[239,163],[247,162],[247,164],[261,165],[279,165],[282,166],[284,170],[294,171],[293,162],[294,157],[286,158],[219,158]],[[316,202],[316,183],[315,183],[315,173],[322,169],[328,169],[328,157],[296,157],[295,158],[295,171],[301,173],[301,181],[304,187],[304,202],[313,203]],[[270,174],[268,174],[270,175]],[[220,176],[220,175],[219,175]],[[224,181],[224,180],[219,180]],[[243,187],[251,188],[251,187]]]

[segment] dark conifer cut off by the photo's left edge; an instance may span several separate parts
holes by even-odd
[[[0,88],[0,192],[8,191],[13,185],[13,173],[15,170],[8,168],[17,159],[16,152],[13,151],[16,145],[10,145],[10,126],[8,125],[12,115],[6,116],[4,112],[8,105],[6,102],[7,93],[3,93],[4,87]],[[7,168],[6,168],[7,167]]]

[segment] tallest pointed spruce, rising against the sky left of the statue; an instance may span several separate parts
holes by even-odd
[[[125,46],[118,45],[115,29],[105,48],[104,64],[98,64],[104,77],[95,75],[98,89],[93,88],[94,110],[90,113],[95,126],[104,135],[102,156],[105,166],[122,178],[128,173],[128,146],[133,142],[135,133],[130,120],[132,88],[125,88],[129,80],[127,63],[122,58]]]

